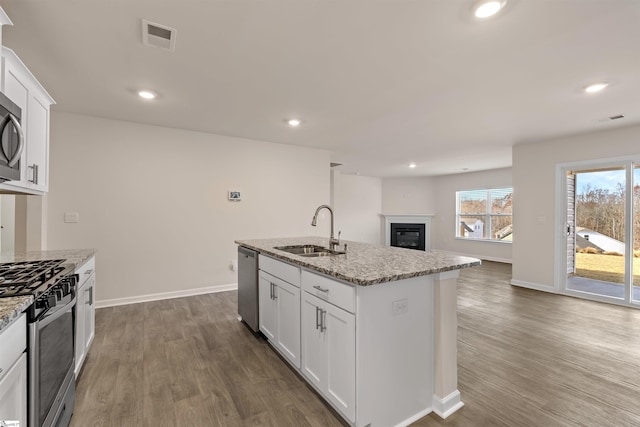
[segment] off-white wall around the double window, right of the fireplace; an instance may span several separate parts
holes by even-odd
[[[456,252],[486,260],[511,262],[510,243],[456,239],[456,191],[511,186],[511,168],[468,172],[436,177],[435,196],[438,201],[433,218],[433,248]],[[515,240],[520,236],[514,233]]]

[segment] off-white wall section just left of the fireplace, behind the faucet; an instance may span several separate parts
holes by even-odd
[[[332,172],[335,233],[342,239],[381,244],[382,180]]]

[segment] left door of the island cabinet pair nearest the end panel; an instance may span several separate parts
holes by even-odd
[[[307,292],[302,293],[300,369],[302,375],[320,390],[324,388],[327,376],[326,334],[321,327],[325,304]]]

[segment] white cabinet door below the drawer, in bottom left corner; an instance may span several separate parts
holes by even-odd
[[[0,419],[27,425],[27,355],[0,376]]]

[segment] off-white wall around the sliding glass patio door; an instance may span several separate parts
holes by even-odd
[[[555,173],[560,163],[637,156],[640,126],[513,148],[513,282],[554,287]],[[564,257],[565,254],[559,256]]]

